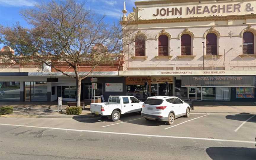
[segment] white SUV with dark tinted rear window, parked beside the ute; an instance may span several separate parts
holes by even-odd
[[[190,106],[178,97],[149,97],[142,106],[142,117],[146,120],[167,121],[172,125],[174,119],[190,115]]]

